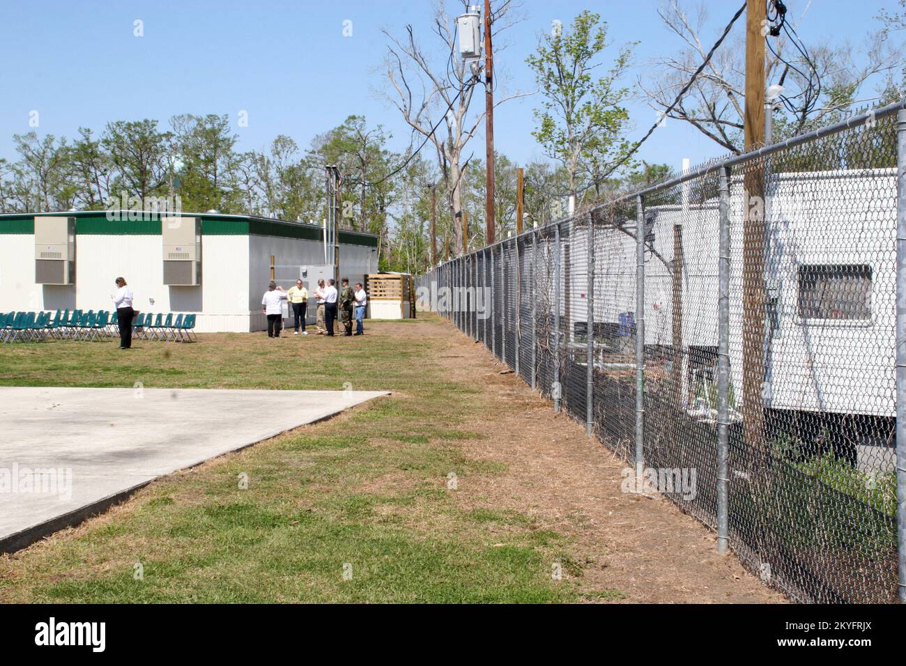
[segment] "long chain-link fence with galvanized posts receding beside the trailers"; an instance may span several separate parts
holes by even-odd
[[[460,256],[419,302],[767,584],[902,601],[903,106]]]

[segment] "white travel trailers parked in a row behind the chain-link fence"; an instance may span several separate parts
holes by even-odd
[[[717,176],[713,179],[716,185]],[[768,410],[894,417],[895,179],[896,169],[849,169],[779,173],[766,180],[763,397]],[[645,209],[645,344],[672,344],[679,291],[671,264],[674,239],[681,233],[682,344],[689,350],[684,358],[693,365],[713,365],[718,191],[715,187],[704,198],[696,192],[697,200],[691,202],[689,187],[677,187],[677,200]],[[743,181],[735,177],[730,194],[730,368],[737,401],[742,396],[743,220]],[[635,219],[624,223],[595,231],[596,336],[599,330],[625,336],[625,323],[637,318]],[[588,227],[576,223],[561,256],[564,266],[579,264],[572,271],[564,269],[561,301],[577,361],[583,361],[579,348],[587,320],[587,244]],[[631,354],[631,345],[625,351]],[[695,372],[695,367],[684,368],[684,381],[694,381]]]

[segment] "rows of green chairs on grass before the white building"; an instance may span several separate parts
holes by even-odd
[[[136,314],[133,335],[143,340],[178,343],[196,342],[195,314]],[[117,313],[99,310],[57,310],[49,312],[0,313],[0,342],[40,342],[54,340],[102,340],[119,334]]]

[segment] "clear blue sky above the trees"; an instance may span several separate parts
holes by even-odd
[[[688,5],[691,6],[692,0]],[[554,19],[569,24],[592,8],[610,24],[614,43],[640,42],[629,84],[651,75],[651,59],[669,55],[679,40],[660,24],[659,0],[539,2],[525,0],[525,21],[501,39],[498,78],[510,91],[534,90],[525,55]],[[710,0],[707,45],[741,0]],[[808,0],[786,0],[791,16]],[[874,16],[895,0],[812,0],[799,33],[806,43],[830,36],[859,43],[878,26]],[[381,122],[394,134],[391,147],[409,145],[410,132],[399,113],[382,101],[381,61],[386,37],[381,27],[402,34],[412,24],[426,50],[438,43],[429,33],[432,0],[399,2],[172,2],[23,3],[4,0],[0,21],[0,157],[14,159],[12,135],[25,133],[30,111],[39,111],[39,133],[76,136],[80,126],[100,131],[107,121],[155,118],[176,113],[228,113],[236,124],[247,111],[248,126],[236,125],[242,150],[265,148],[277,134],[307,147],[313,136],[340,124],[352,113]],[[458,2],[447,2],[450,14]],[[140,19],[144,36],[133,36]],[[343,21],[352,21],[344,37]],[[737,22],[733,35],[741,35]],[[841,36],[843,35],[843,36]],[[725,47],[731,46],[725,43]],[[499,93],[499,89],[498,89]],[[510,101],[496,111],[497,150],[518,163],[541,158],[531,137],[537,96]],[[481,104],[481,97],[473,103]],[[641,136],[655,120],[641,101],[630,104],[633,130]],[[420,140],[419,140],[420,142]],[[469,146],[484,153],[484,136]],[[679,121],[669,121],[641,149],[641,158],[679,167],[721,153],[718,146]]]

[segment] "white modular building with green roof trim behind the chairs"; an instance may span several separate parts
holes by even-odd
[[[341,277],[364,283],[377,272],[377,236],[342,229],[338,240]],[[311,291],[332,273],[323,227],[300,222],[213,212],[0,215],[0,312],[111,311],[122,275],[140,313],[194,313],[199,333],[261,331],[272,257],[284,288],[304,275]]]

